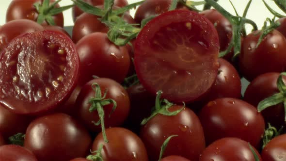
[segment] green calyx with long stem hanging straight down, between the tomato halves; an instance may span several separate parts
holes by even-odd
[[[95,97],[90,98],[89,103],[91,104],[89,112],[92,113],[95,110],[97,110],[99,120],[97,122],[93,121],[95,126],[98,126],[101,124],[101,130],[102,130],[102,135],[105,143],[108,143],[106,133],[105,133],[105,126],[104,126],[104,110],[103,107],[105,105],[113,104],[112,111],[111,113],[114,112],[116,109],[116,101],[113,99],[105,99],[107,91],[104,92],[104,95],[102,97],[101,95],[101,89],[100,86],[97,83],[92,84],[92,88],[95,91]],[[109,117],[111,116],[111,113],[109,114]]]

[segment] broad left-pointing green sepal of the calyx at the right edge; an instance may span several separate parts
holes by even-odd
[[[261,111],[263,111],[264,109],[270,106],[282,103],[284,102],[284,100],[285,100],[285,96],[283,93],[277,93],[277,94],[274,94],[273,96],[265,98],[259,102],[257,106],[258,112],[260,113]]]

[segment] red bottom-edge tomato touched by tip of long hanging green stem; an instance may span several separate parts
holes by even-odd
[[[95,151],[104,145],[101,151],[103,161],[148,161],[145,146],[135,133],[124,128],[109,128],[105,132],[109,143],[106,144],[99,133],[91,149]]]

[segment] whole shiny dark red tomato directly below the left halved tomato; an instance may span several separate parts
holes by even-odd
[[[39,117],[29,125],[24,147],[39,161],[68,161],[89,153],[91,137],[76,120],[64,113]]]

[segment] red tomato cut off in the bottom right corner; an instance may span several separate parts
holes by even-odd
[[[272,139],[262,150],[263,161],[286,161],[286,134]]]

